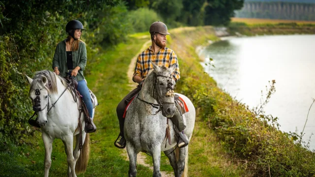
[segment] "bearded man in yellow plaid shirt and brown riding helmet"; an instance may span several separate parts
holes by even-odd
[[[180,71],[178,60],[176,54],[173,50],[166,48],[166,35],[169,35],[167,27],[162,22],[154,22],[150,27],[150,34],[152,45],[139,54],[137,63],[134,69],[132,81],[138,83],[138,87],[132,90],[127,96],[118,104],[116,112],[120,124],[120,134],[116,139],[114,145],[117,148],[125,148],[126,140],[124,137],[124,122],[123,118],[125,108],[127,106],[128,100],[132,98],[136,93],[141,90],[142,82],[148,75],[149,71],[153,69],[150,61],[154,62],[159,66],[170,67],[172,64],[177,63],[176,69],[173,71],[172,76],[175,82],[180,79]],[[184,129],[186,125],[184,124],[183,118],[178,110],[176,110],[172,122],[178,129],[178,147],[183,148],[188,145],[187,136],[184,134]],[[119,140],[120,139],[120,140]],[[183,140],[184,139],[184,140]],[[119,141],[118,141],[119,140]],[[187,143],[185,143],[187,142]]]

